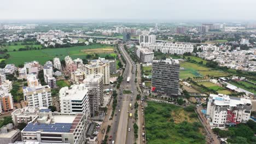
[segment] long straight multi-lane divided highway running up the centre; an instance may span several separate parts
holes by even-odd
[[[137,88],[135,83],[135,71],[136,71],[136,65],[134,62],[132,62],[130,56],[127,54],[127,52],[124,50],[123,45],[119,45],[120,51],[123,53],[124,58],[126,59],[126,67],[124,70],[124,79],[123,82],[121,82],[119,91],[118,92],[118,104],[115,110],[116,116],[113,117],[113,123],[112,127],[109,133],[109,136],[112,136],[112,140],[115,141],[115,143],[127,143],[127,144],[133,144],[135,143],[135,137],[134,137],[134,131],[133,131],[133,122],[134,119],[134,104],[136,101],[136,95],[137,95]],[[130,82],[127,83],[127,77],[130,77]],[[130,90],[132,91],[131,94],[121,94],[123,93],[123,90]],[[132,97],[132,101],[131,101]],[[130,103],[132,104],[133,109],[131,110],[129,108]],[[120,112],[118,112],[120,110]],[[129,113],[132,113],[132,118],[129,118]],[[128,131],[128,128],[131,129],[131,131]]]

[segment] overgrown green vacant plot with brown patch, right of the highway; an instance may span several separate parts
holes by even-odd
[[[204,131],[194,108],[148,101],[145,109],[147,143],[205,143]]]

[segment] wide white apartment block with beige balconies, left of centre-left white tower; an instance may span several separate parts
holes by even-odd
[[[28,106],[48,107],[52,105],[50,86],[36,86],[23,88],[24,100]]]

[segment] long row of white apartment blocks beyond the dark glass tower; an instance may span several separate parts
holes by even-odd
[[[148,49],[151,51],[160,51],[162,53],[170,53],[183,55],[185,52],[193,52],[194,47],[192,44],[177,44],[177,43],[156,43],[149,44]]]

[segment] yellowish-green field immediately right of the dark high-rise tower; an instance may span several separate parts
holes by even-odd
[[[228,73],[224,73],[223,71],[212,70],[199,64],[189,62],[180,62],[180,64],[181,67],[184,68],[179,73],[180,79],[187,79],[188,77],[197,76],[224,77],[229,75]]]

